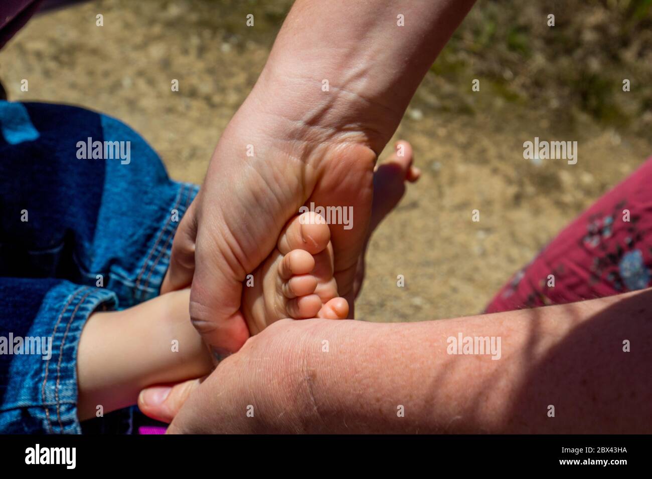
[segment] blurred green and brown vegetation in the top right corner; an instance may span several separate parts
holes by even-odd
[[[479,78],[507,104],[637,126],[652,115],[652,0],[481,1],[430,71],[451,86],[438,98],[444,109],[484,108],[482,96],[466,100]]]

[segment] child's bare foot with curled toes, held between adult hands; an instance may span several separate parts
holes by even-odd
[[[287,317],[346,318],[348,302],[338,297],[333,272],[328,225],[314,212],[295,216],[276,249],[244,282],[242,307],[250,333]]]

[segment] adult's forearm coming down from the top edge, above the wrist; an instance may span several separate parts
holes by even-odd
[[[378,153],[473,2],[297,0],[254,89],[258,106]]]

